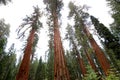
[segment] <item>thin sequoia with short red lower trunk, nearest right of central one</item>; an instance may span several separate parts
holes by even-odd
[[[84,63],[82,57],[80,56],[80,52],[79,52],[77,44],[75,42],[74,31],[70,25],[68,25],[68,27],[67,27],[66,38],[69,39],[70,44],[72,45],[72,51],[75,53],[75,56],[77,56],[76,58],[77,58],[77,62],[79,63],[79,67],[81,69],[81,73],[83,76],[85,76],[85,74],[86,74],[85,63]]]

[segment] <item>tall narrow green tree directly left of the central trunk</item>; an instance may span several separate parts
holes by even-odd
[[[49,26],[49,49],[48,49],[48,59],[47,59],[47,65],[46,65],[46,77],[48,80],[54,79],[54,46],[53,46],[53,35],[54,35],[54,28],[53,28],[53,22],[52,17],[49,16],[49,19],[47,20],[47,24]]]

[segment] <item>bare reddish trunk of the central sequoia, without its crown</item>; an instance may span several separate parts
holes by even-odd
[[[70,80],[59,32],[58,17],[55,10],[53,10],[52,15],[54,21],[54,80]]]

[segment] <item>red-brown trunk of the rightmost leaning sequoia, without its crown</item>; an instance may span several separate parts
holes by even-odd
[[[105,54],[103,53],[103,51],[100,49],[100,47],[98,46],[98,44],[96,43],[96,41],[94,40],[94,38],[92,37],[92,35],[90,34],[89,30],[87,29],[87,27],[84,26],[84,32],[86,33],[91,46],[94,49],[94,52],[97,56],[97,59],[104,71],[104,74],[107,75],[108,74],[108,70],[110,69],[110,64],[108,59],[106,58]]]

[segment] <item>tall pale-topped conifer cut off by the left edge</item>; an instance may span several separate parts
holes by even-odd
[[[0,80],[4,80],[7,75],[7,67],[12,62],[9,53],[5,51],[7,38],[9,36],[9,24],[5,23],[4,19],[0,20]]]

